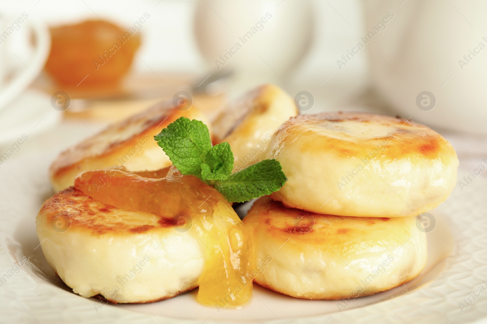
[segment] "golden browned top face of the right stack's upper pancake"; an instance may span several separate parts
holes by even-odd
[[[317,142],[315,136],[327,138]],[[386,141],[388,159],[416,155],[434,159],[455,154],[453,147],[431,128],[411,120],[353,112],[325,112],[289,119],[277,131],[285,141],[306,138],[303,151],[333,151],[342,156],[366,156]],[[279,148],[275,148],[279,151]]]

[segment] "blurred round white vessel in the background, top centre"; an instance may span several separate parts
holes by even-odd
[[[308,0],[199,0],[194,32],[210,68],[233,70],[241,86],[285,83],[311,43],[313,12]]]

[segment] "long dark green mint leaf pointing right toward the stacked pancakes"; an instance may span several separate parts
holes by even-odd
[[[224,181],[215,181],[215,188],[229,202],[242,203],[263,195],[270,195],[279,190],[286,181],[281,163],[271,159],[251,165],[230,175]]]

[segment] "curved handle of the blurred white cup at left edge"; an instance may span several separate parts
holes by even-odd
[[[32,29],[36,36],[36,49],[32,63],[19,73],[14,79],[0,91],[0,110],[19,96],[22,91],[31,84],[37,74],[44,68],[47,56],[51,49],[51,35],[47,26],[40,21],[24,20],[24,23]]]

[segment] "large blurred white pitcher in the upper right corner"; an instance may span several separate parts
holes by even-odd
[[[372,83],[401,117],[487,134],[487,2],[363,0]],[[483,44],[483,45],[481,45]]]

